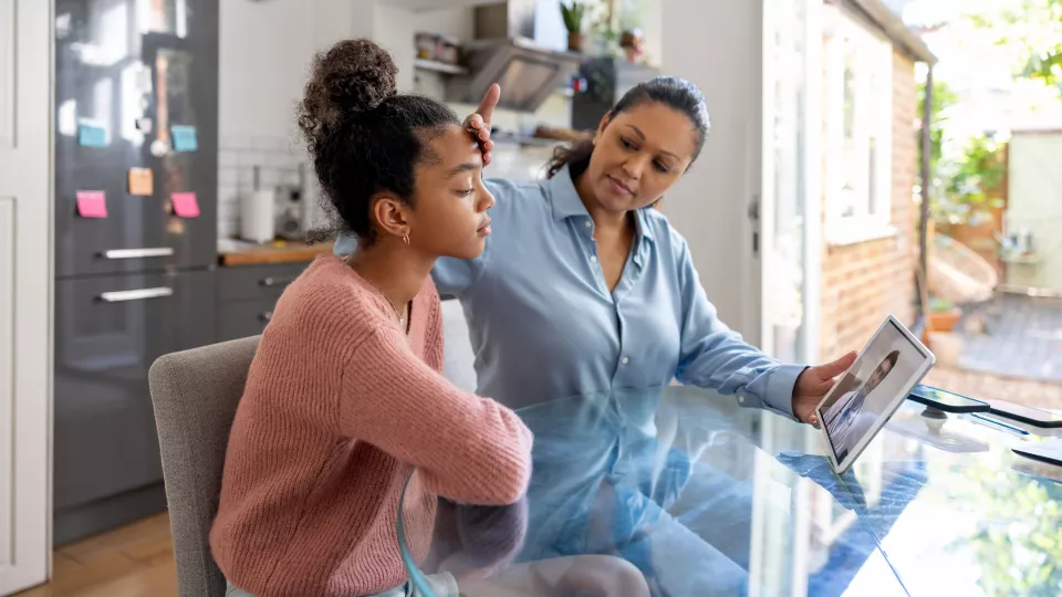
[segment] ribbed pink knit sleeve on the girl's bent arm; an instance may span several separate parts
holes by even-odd
[[[377,327],[357,345],[337,400],[344,434],[417,467],[430,492],[506,505],[527,489],[531,431],[510,409],[454,386],[397,328]]]

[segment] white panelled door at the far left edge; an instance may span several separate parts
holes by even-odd
[[[0,595],[51,554],[51,12],[0,0]]]

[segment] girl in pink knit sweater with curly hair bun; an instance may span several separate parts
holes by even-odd
[[[449,108],[397,94],[395,73],[374,43],[344,41],[317,57],[305,87],[299,125],[337,227],[360,244],[345,260],[317,258],[284,291],[251,365],[210,533],[230,595],[405,596],[395,533],[414,467],[402,515],[420,558],[437,496],[504,506],[527,488],[527,427],[440,373],[428,274],[441,256],[483,250],[494,201],[482,157]],[[546,576],[564,565],[545,565]],[[632,587],[617,595],[644,595],[637,570],[610,565]],[[429,580],[438,597],[457,597],[452,576]]]

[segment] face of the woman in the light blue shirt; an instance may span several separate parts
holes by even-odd
[[[636,105],[611,121],[605,116],[580,188],[592,190],[608,211],[652,205],[681,178],[697,137],[688,116],[657,102]]]

